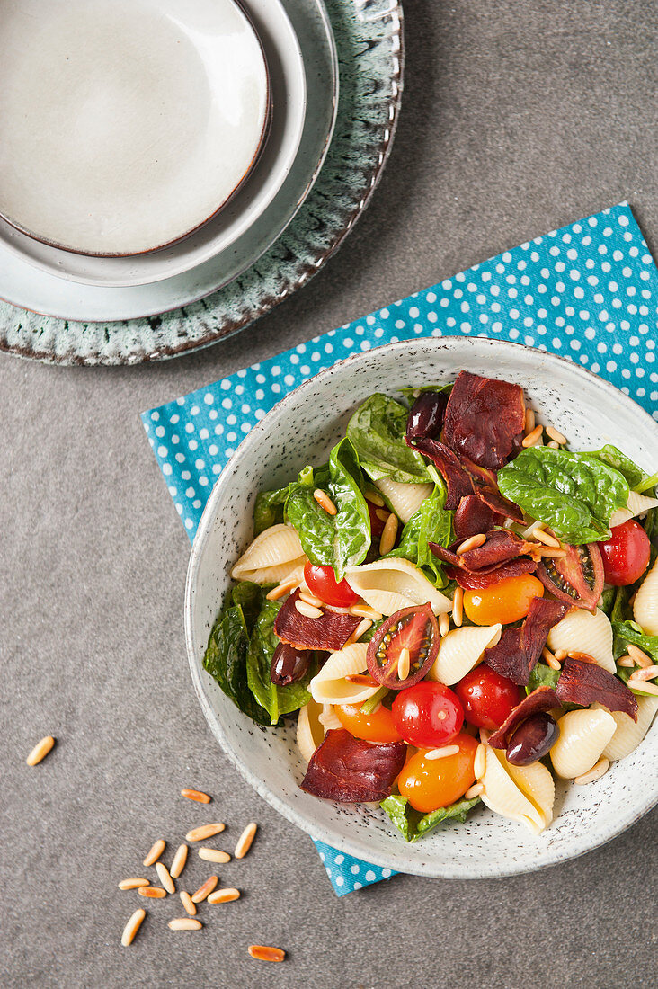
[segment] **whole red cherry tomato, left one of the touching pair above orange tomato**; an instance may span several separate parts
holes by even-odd
[[[464,710],[449,686],[421,680],[401,690],[393,701],[393,724],[418,749],[448,745],[461,731]]]

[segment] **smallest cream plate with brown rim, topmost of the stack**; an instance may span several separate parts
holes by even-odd
[[[265,138],[267,65],[235,0],[8,0],[0,50],[0,214],[54,246],[187,236]]]

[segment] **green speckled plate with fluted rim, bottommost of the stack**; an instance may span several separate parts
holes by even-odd
[[[284,2],[295,23],[306,0]],[[150,312],[157,315],[83,322],[2,303],[0,349],[61,364],[138,364],[175,357],[235,333],[320,270],[379,181],[397,124],[403,67],[398,0],[328,0],[327,9],[339,65],[335,129],[310,195],[266,253],[224,288],[164,315],[153,308]]]

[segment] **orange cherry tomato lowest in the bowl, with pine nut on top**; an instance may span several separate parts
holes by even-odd
[[[478,740],[462,732],[450,745],[459,746],[459,752],[454,756],[430,760],[421,750],[412,756],[398,776],[401,795],[422,814],[459,800],[475,782]]]

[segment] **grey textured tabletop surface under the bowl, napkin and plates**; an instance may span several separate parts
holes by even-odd
[[[189,545],[139,412],[627,198],[655,248],[655,45],[645,2],[407,0],[407,92],[373,204],[284,307],[226,343],[139,369],[0,361],[0,984],[592,987],[652,983],[656,812],[609,846],[499,881],[399,876],[336,899],[308,838],[216,748],[182,637]],[[35,769],[43,735],[58,745]],[[205,809],[177,796],[199,786]],[[261,831],[220,867],[246,892],[180,911],[116,882],[215,817]],[[188,888],[207,874],[198,858]],[[246,944],[281,944],[283,965]]]

